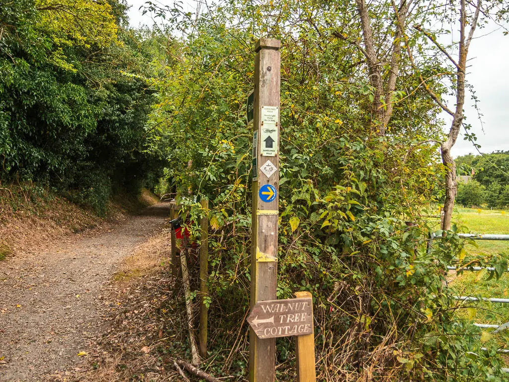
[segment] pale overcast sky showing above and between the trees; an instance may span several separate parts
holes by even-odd
[[[153,0],[159,3],[158,0]],[[127,0],[130,8],[128,14],[130,24],[133,27],[140,25],[152,25],[153,20],[146,14],[142,15],[139,7],[146,0]],[[172,5],[173,1],[161,3]],[[161,4],[159,3],[159,4]],[[195,2],[184,0],[187,6],[194,7]],[[493,29],[492,29],[493,30]],[[477,30],[477,36],[488,33],[489,30]],[[480,151],[489,153],[495,150],[509,150],[509,36],[503,36],[502,31],[494,31],[489,35],[479,37],[472,41],[468,53],[470,67],[467,72],[467,81],[473,85],[480,113],[483,114],[483,127],[477,118],[477,112],[473,108],[470,94],[465,99],[465,115],[467,122],[472,125],[472,132],[477,135],[477,143],[481,146]],[[454,103],[449,104],[454,110]],[[445,129],[448,130],[450,123],[448,115],[444,113],[447,121]],[[453,148],[454,156],[477,153],[472,144],[458,138]]]

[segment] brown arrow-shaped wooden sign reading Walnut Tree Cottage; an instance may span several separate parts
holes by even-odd
[[[312,334],[313,299],[260,301],[251,309],[247,322],[261,339]]]

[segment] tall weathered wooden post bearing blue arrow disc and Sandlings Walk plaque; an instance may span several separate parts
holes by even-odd
[[[251,308],[276,298],[280,46],[273,39],[260,39],[254,46]],[[275,339],[260,339],[250,329],[249,381],[274,379]]]

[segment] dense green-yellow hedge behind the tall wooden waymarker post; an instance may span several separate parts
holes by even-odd
[[[495,345],[482,345],[478,328],[456,320],[444,288],[445,266],[462,247],[456,228],[428,245],[436,228],[424,207],[442,187],[438,110],[406,62],[398,89],[412,91],[399,93],[386,137],[373,132],[362,56],[331,36],[341,28],[359,36],[346,3],[209,8],[189,29],[175,24],[189,34],[171,42],[179,60],[154,80],[151,149],[172,163],[169,188],[190,221],[207,214],[212,228],[214,365],[246,373],[240,325],[250,284],[252,131],[245,101],[254,41],[269,35],[281,40],[277,296],[314,296],[318,379],[505,380]],[[384,12],[373,16],[380,27]],[[208,198],[210,209],[195,197]],[[288,340],[277,343],[279,380],[295,378],[292,349]]]

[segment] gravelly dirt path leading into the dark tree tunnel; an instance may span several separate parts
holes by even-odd
[[[134,248],[160,228],[168,204],[96,235],[0,262],[0,381],[40,381],[78,367],[101,318],[115,308],[101,290]]]

